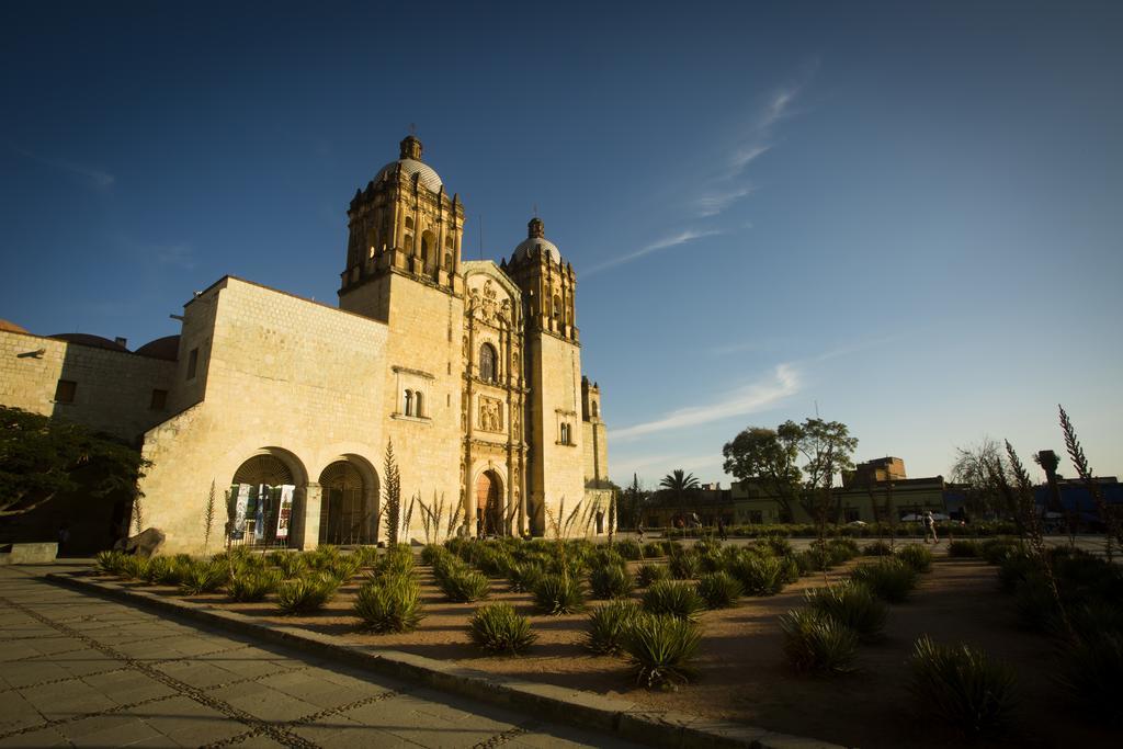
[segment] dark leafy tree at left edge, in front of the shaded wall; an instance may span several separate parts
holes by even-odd
[[[0,405],[0,517],[25,514],[74,492],[135,501],[137,481],[150,465],[109,435]]]

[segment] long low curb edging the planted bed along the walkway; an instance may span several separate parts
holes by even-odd
[[[180,601],[117,583],[80,575],[48,573],[46,579],[124,601],[161,613],[220,628],[262,642],[282,645],[319,658],[376,674],[393,676],[481,702],[514,707],[556,723],[611,733],[628,741],[652,747],[748,747],[750,749],[841,749],[838,745],[765,729],[715,721],[669,711],[651,711],[640,705],[592,692],[567,689],[499,674],[489,674],[456,664],[341,641],[296,627],[261,622],[245,614],[207,604]]]

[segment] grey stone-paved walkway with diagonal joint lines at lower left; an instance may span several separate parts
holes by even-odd
[[[0,567],[0,747],[629,747]]]

